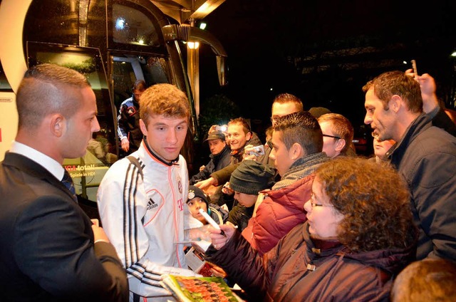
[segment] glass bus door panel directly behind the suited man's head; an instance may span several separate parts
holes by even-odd
[[[38,42],[28,42],[26,48],[28,66],[54,63],[72,68],[86,75],[92,86],[97,100],[100,131],[93,135],[84,157],[65,159],[63,166],[73,178],[76,194],[95,202],[98,185],[110,165],[117,160],[118,154],[116,123],[100,51],[97,48]]]

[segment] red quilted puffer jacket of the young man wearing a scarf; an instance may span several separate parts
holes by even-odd
[[[297,224],[306,222],[304,204],[311,197],[314,175],[309,175],[287,187],[267,192],[257,215],[249,220],[242,231],[247,241],[263,255]]]

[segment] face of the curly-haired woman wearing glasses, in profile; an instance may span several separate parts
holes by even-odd
[[[327,238],[337,236],[343,215],[334,209],[318,178],[312,184],[311,199],[304,204],[312,235]]]

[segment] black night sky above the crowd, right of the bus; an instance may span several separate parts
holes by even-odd
[[[456,1],[420,6],[408,0],[226,0],[204,21],[228,53],[229,85],[219,88],[215,58],[204,46],[199,56],[200,99],[223,93],[239,105],[244,118],[263,123],[269,121],[274,96],[287,92],[298,95],[306,110],[323,106],[361,125],[363,84],[383,71],[405,71],[410,65],[348,73],[341,56],[328,71],[303,76],[302,68],[292,63],[323,50],[354,48],[360,41],[363,47],[381,50],[378,61],[382,51],[385,58],[395,56],[400,62],[414,58],[418,73],[434,76],[442,94],[455,85],[449,55],[456,49]],[[387,53],[393,44],[402,50]]]

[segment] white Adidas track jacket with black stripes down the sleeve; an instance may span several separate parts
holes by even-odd
[[[187,269],[182,244],[188,229],[188,171],[184,157],[169,165],[153,155],[142,140],[128,158],[115,162],[97,193],[101,223],[128,274],[130,291],[145,297],[169,296],[160,275],[194,276]],[[182,269],[180,269],[182,268]]]

